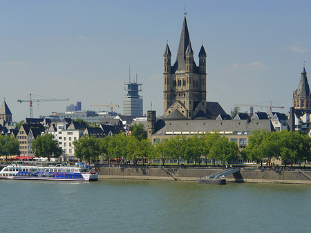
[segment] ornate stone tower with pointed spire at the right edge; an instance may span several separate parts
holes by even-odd
[[[311,110],[311,93],[305,66],[303,66],[299,86],[296,91],[294,91],[292,99],[294,109]]]

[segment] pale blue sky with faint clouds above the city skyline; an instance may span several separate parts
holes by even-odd
[[[35,102],[33,117],[66,111],[109,111],[124,82],[142,83],[144,114],[163,114],[163,52],[176,59],[185,5],[198,64],[207,53],[207,101],[230,113],[235,104],[285,106],[299,85],[303,62],[311,73],[311,1],[2,1],[0,102],[14,121],[29,118],[29,94],[69,98]],[[38,96],[33,98],[42,98]],[[247,111],[247,107],[241,107]],[[257,107],[254,111],[267,111]]]

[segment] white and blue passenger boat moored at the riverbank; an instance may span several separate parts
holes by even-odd
[[[98,174],[95,169],[89,169],[84,164],[50,166],[15,162],[0,171],[0,179],[96,181]]]

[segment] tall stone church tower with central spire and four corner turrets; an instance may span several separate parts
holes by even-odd
[[[176,62],[171,66],[171,50],[164,50],[164,118],[194,119],[206,113],[206,53],[203,45],[194,62],[186,17],[178,46]]]

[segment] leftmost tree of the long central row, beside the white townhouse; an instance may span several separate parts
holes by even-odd
[[[73,142],[75,146],[75,157],[79,160],[97,160],[100,155],[100,143],[94,136],[82,136]]]

